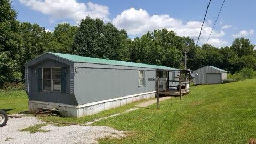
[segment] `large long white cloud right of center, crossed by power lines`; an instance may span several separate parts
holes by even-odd
[[[210,35],[212,30],[209,26],[210,23],[210,20],[204,23],[201,33],[202,39],[206,39]],[[147,31],[152,31],[154,29],[166,28],[175,31],[179,36],[189,36],[194,39],[198,37],[202,26],[201,21],[188,21],[184,23],[181,20],[172,18],[166,14],[149,15],[146,10],[136,10],[134,8],[125,10],[113,18],[113,24],[120,29],[125,29],[128,34],[134,36],[145,34]],[[220,38],[224,35],[225,33],[222,30],[213,30],[211,37]]]

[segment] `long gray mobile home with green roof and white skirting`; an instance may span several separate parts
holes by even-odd
[[[66,117],[93,115],[154,98],[156,76],[167,75],[167,88],[177,87],[176,81],[169,83],[168,80],[173,81],[179,73],[179,69],[166,66],[44,53],[25,63],[29,111],[56,108]],[[185,88],[188,87],[189,84]]]

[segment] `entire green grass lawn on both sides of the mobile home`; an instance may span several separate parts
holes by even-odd
[[[132,131],[122,139],[100,143],[247,143],[256,138],[256,79],[221,85],[191,87],[191,93],[139,108],[93,125]],[[9,113],[28,110],[24,91],[0,91],[0,109]],[[141,101],[140,101],[141,102]],[[137,102],[138,103],[138,102]],[[135,103],[84,118],[42,117],[50,122],[84,124],[133,108]]]

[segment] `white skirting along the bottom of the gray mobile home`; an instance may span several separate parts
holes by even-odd
[[[47,102],[41,102],[41,101],[29,101],[29,112],[35,113],[37,111],[37,108],[56,108],[61,111],[61,115],[63,117],[84,117],[93,115],[96,113],[99,113],[100,111],[108,110],[111,108],[117,108],[124,105],[127,105],[129,103],[140,101],[144,99],[151,99],[155,98],[155,92],[149,92],[149,93],[141,93],[132,95],[131,97],[121,97],[118,99],[113,100],[105,100],[102,102],[97,103],[90,103],[86,104],[85,106],[79,105],[79,106],[73,106],[73,105],[65,105],[61,103],[47,103]]]

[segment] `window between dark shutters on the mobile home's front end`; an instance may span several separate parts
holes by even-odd
[[[60,91],[61,69],[43,68],[43,90]]]

